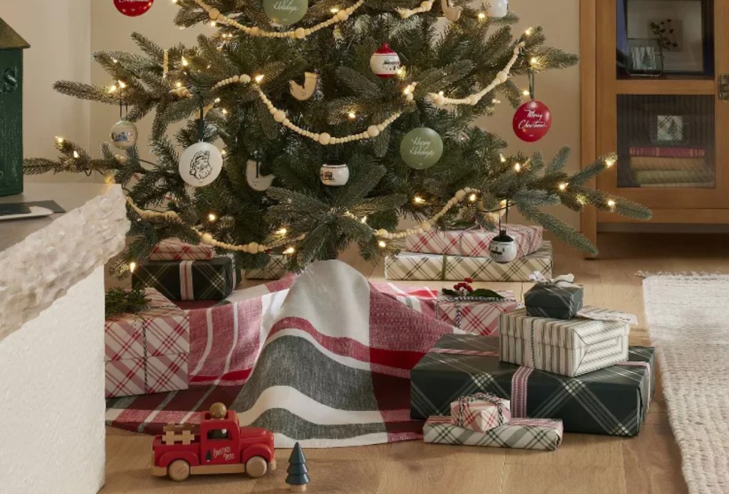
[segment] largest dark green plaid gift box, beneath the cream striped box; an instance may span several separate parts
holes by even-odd
[[[514,418],[560,418],[566,432],[636,436],[655,381],[654,348],[631,346],[629,362],[568,378],[499,362],[499,338],[445,335],[410,373],[410,415],[448,415],[474,393],[511,401]]]

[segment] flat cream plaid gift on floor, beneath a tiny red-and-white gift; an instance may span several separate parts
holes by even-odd
[[[486,432],[463,429],[451,417],[430,417],[423,426],[425,442],[438,445],[510,447],[554,451],[562,443],[562,421],[550,418],[512,418]]]

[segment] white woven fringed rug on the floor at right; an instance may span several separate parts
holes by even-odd
[[[643,291],[690,493],[729,493],[729,275],[648,276]]]

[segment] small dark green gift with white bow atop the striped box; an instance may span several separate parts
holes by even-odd
[[[535,271],[529,277],[537,283],[524,294],[524,305],[530,316],[572,319],[582,308],[585,289],[574,284],[572,274],[548,279]]]

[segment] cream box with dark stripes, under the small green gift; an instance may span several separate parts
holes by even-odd
[[[627,322],[547,319],[526,309],[502,314],[502,362],[574,377],[628,360]]]

